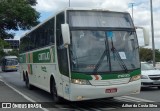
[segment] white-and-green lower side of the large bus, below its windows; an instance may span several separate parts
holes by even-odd
[[[63,96],[62,79],[57,70],[54,46],[20,55],[20,59],[23,63],[20,65],[21,79],[23,72],[27,72],[30,84],[50,92],[50,78],[53,75],[59,95]]]

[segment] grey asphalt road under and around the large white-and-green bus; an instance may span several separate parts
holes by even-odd
[[[48,111],[159,111],[160,108],[122,108],[125,102],[160,102],[160,90],[158,88],[145,88],[138,95],[116,97],[114,99],[100,99],[83,102],[69,102],[64,101],[61,104],[54,104],[52,97],[49,93],[34,88],[28,90],[25,83],[20,80],[19,72],[0,72],[0,79],[5,81],[8,85],[12,86],[31,100],[36,102],[46,102],[48,104]],[[108,103],[108,101],[110,101]],[[85,106],[85,107],[84,107]]]

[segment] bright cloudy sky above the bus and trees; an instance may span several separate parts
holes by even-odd
[[[69,7],[69,1],[70,7],[104,8],[111,11],[125,11],[129,12],[131,16],[131,3],[133,3],[134,24],[135,26],[148,29],[150,45],[147,48],[152,47],[150,0],[37,0],[38,4],[34,8],[41,14],[39,18],[40,22],[53,16],[57,11]],[[160,0],[152,0],[152,7],[155,48],[160,49]],[[26,32],[17,32],[15,39],[20,39]],[[142,46],[144,44],[143,38],[138,36],[138,40],[139,45]]]

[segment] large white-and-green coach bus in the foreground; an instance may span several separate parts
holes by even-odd
[[[127,12],[67,8],[20,39],[19,58],[26,86],[55,102],[140,92],[139,46]]]

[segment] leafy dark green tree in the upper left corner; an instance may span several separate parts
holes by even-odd
[[[40,14],[32,7],[36,3],[36,0],[0,0],[0,38],[13,38],[10,30],[26,30],[37,25]]]

